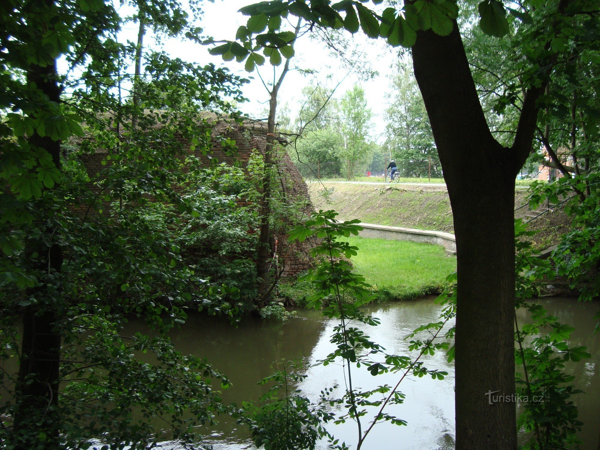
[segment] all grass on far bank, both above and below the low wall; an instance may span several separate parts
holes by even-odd
[[[310,184],[309,192],[316,209],[335,209],[340,218],[359,218],[367,223],[404,226],[453,232],[452,211],[448,193],[439,188],[412,188],[327,184],[329,193],[322,195],[320,184]],[[515,206],[524,202],[526,193],[517,191]],[[517,217],[527,214],[527,208]],[[547,248],[558,242],[559,235],[569,229],[568,217],[562,211],[546,214],[532,222],[530,229],[540,231],[533,236],[535,247]],[[456,257],[446,256],[442,247],[407,241],[350,238],[359,248],[352,264],[377,288],[380,301],[412,299],[436,291],[445,278],[456,270]],[[278,294],[289,304],[305,305],[311,287],[307,282],[282,283]]]

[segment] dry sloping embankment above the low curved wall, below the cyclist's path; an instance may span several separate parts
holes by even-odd
[[[343,220],[358,218],[366,223],[454,233],[448,191],[442,187],[323,182],[309,184],[308,192],[317,211],[335,209]],[[526,202],[526,196],[525,190],[515,192],[515,208]],[[530,218],[527,215],[532,215],[528,206],[515,212],[523,220]],[[529,228],[539,233],[530,239],[536,250],[557,244],[570,224],[562,208],[533,220]]]

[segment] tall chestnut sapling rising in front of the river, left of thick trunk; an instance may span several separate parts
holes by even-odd
[[[428,374],[433,379],[443,379],[447,375],[443,371],[427,369],[420,360],[425,354],[433,355],[436,350],[448,349],[448,343],[434,343],[434,341],[446,322],[454,317],[454,306],[444,310],[441,322],[421,327],[410,336],[415,337],[418,332],[434,330],[429,338],[410,341],[410,350],[420,350],[416,359],[412,360],[408,356],[386,353],[385,348],[371,341],[364,331],[352,326],[352,322],[377,325],[379,319],[361,311],[361,306],[373,299],[370,293],[371,286],[366,283],[362,275],[353,271],[347,260],[356,256],[358,247],[350,245],[346,239],[351,235],[358,235],[362,227],[356,225],[358,220],[339,222],[335,220],[336,215],[337,213],[334,211],[315,212],[305,224],[292,230],[290,239],[304,241],[309,236],[316,236],[317,239],[320,239],[320,244],[311,250],[314,256],[320,259],[320,263],[304,277],[314,286],[314,293],[308,298],[308,306],[322,308],[326,317],[340,321],[331,336],[331,342],[336,345],[337,349],[320,363],[328,365],[343,361],[348,387],[342,397],[329,401],[332,406],[343,406],[345,409],[345,412],[340,413],[335,419],[336,424],[349,419],[356,422],[359,436],[357,449],[359,449],[377,422],[389,421],[395,425],[407,424],[405,420],[384,412],[388,404],[403,403],[404,395],[397,389],[407,374],[418,377]],[[440,297],[440,299],[442,298],[445,297]],[[373,376],[388,371],[401,371],[403,375],[394,387],[383,385],[370,391],[360,391],[352,384],[352,367],[354,365],[356,368],[364,366]],[[367,416],[370,407],[378,410],[367,429],[363,431],[361,418]]]

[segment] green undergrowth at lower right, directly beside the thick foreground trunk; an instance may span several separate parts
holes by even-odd
[[[528,301],[535,290],[532,282],[552,274],[550,263],[537,258],[531,244],[520,238],[532,235],[521,220],[515,221],[517,302],[515,304],[515,359],[517,363],[517,394],[523,398],[523,412],[517,426],[533,433],[526,449],[575,448],[579,443],[576,433],[581,430],[577,406],[571,395],[581,391],[568,384],[575,377],[566,374],[565,362],[590,358],[586,347],[570,347],[569,336],[574,330],[558,322],[542,305]],[[516,311],[526,308],[532,323],[519,329]],[[548,333],[544,334],[543,331]],[[522,370],[522,376],[520,374]]]

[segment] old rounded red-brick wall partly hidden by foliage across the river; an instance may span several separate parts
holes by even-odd
[[[219,163],[233,164],[235,161],[238,161],[241,167],[245,169],[250,155],[255,150],[264,154],[266,149],[266,132],[266,124],[263,122],[232,124],[230,122],[219,121],[215,124],[212,131],[212,152],[209,155],[203,155],[199,149],[192,151],[190,143],[182,136],[177,136],[176,139],[183,144],[184,151],[188,155],[194,155],[202,163],[208,165],[211,162],[214,163],[216,160]],[[237,152],[234,155],[227,155],[223,151],[220,139],[215,138],[217,135],[235,140]],[[277,140],[285,144],[284,139],[278,137]],[[281,146],[277,147],[278,152],[275,155],[275,159],[278,161],[278,172],[281,176],[281,185],[286,201],[287,203],[302,203],[300,213],[303,217],[308,217],[314,210],[308,196],[308,187],[287,152]],[[97,178],[98,173],[111,164],[111,161],[106,160],[106,155],[106,151],[97,151],[94,154],[86,154],[81,157],[88,175],[92,179],[90,186],[92,192],[98,193],[100,191],[101,188],[93,180]],[[240,199],[238,204],[243,207],[247,206],[248,202]],[[76,210],[80,214],[85,214],[87,207],[80,206]],[[308,242],[308,240],[302,243],[297,241],[287,242],[284,235],[277,236],[277,240],[278,268],[281,269],[281,266],[283,266],[283,277],[292,277],[310,268],[312,263],[308,256],[308,250],[312,247],[311,242]],[[271,246],[274,251],[275,236],[271,238]]]

